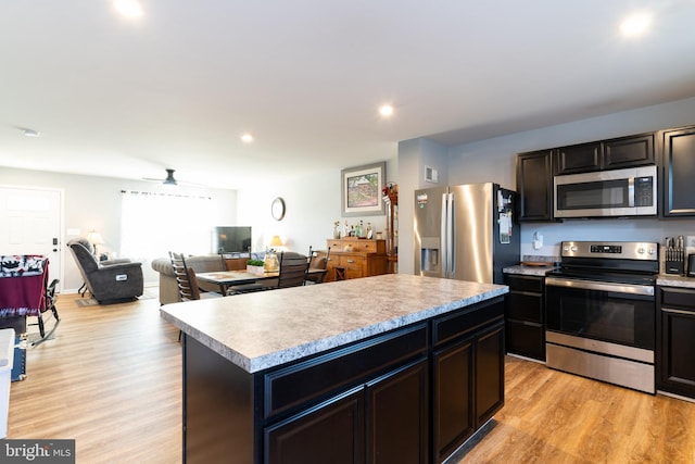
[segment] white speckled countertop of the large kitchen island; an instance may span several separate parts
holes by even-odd
[[[404,274],[162,306],[161,315],[249,373],[503,296],[503,285]]]

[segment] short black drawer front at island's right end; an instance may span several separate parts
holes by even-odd
[[[463,335],[504,318],[504,298],[498,297],[480,305],[469,306],[452,315],[432,321],[432,342],[442,344]]]

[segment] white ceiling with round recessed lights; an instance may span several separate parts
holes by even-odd
[[[694,0],[141,1],[0,3],[0,165],[238,188],[695,96]]]

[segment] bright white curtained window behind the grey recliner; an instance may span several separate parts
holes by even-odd
[[[207,254],[212,211],[210,197],[123,190],[122,255],[146,262],[169,251]]]

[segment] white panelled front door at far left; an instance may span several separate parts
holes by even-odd
[[[60,278],[62,191],[0,187],[0,254],[42,254]],[[62,288],[59,285],[59,288]]]

